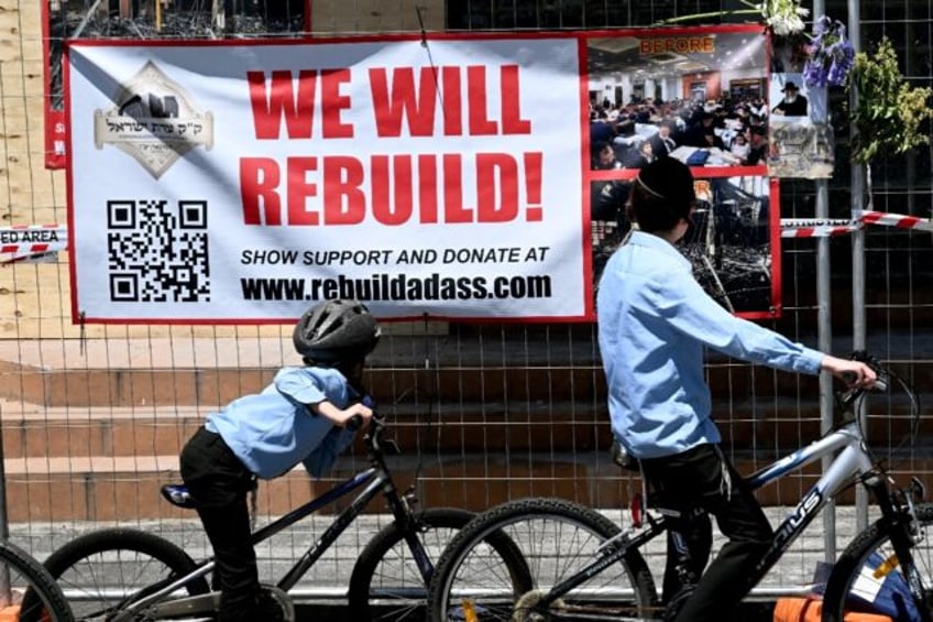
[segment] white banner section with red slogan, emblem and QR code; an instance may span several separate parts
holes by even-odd
[[[577,39],[85,42],[66,78],[85,321],[592,316]]]

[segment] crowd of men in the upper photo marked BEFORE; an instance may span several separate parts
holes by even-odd
[[[590,102],[593,170],[641,168],[673,156],[691,166],[753,166],[768,154],[761,98]]]

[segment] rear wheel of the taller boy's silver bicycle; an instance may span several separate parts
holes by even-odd
[[[651,572],[637,550],[545,604],[541,594],[599,557],[599,548],[621,532],[589,508],[560,499],[509,501],[470,522],[444,549],[428,592],[429,620],[632,619],[655,613]],[[508,537],[526,561],[512,574],[487,539]],[[614,616],[614,618],[613,618]]]

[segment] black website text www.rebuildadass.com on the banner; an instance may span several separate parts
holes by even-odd
[[[322,301],[343,297],[360,301],[473,301],[550,298],[548,275],[517,276],[407,276],[373,274],[370,277],[240,279],[246,301]]]

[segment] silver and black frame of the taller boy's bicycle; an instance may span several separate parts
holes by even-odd
[[[820,480],[803,495],[793,511],[775,531],[775,537],[770,548],[755,568],[757,576],[764,576],[780,559],[788,547],[806,528],[826,503],[838,494],[854,478],[870,476],[875,470],[858,424],[855,421],[850,421],[811,445],[798,449],[747,478],[749,485],[757,490],[782,478],[789,472],[799,470],[823,456],[838,450],[842,451],[824,471]],[[885,483],[869,481],[865,483],[871,488],[876,495],[880,494],[878,502],[881,504],[882,512],[886,515],[889,514],[892,510]],[[594,577],[613,564],[621,561],[633,547],[638,548],[662,534],[667,530],[668,521],[669,519],[666,519],[663,515],[660,517],[648,516],[646,528],[641,530],[641,527],[635,526],[606,541],[601,547],[603,555],[599,559],[553,586],[547,593],[541,594],[538,602],[544,604],[552,603],[585,580]],[[638,533],[639,530],[641,530],[640,533]],[[904,559],[909,559],[909,557]]]

